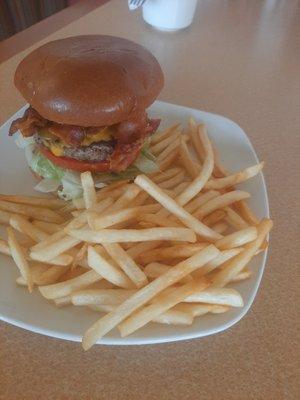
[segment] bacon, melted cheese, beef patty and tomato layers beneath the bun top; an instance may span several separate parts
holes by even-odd
[[[134,162],[159,123],[142,112],[109,127],[78,127],[48,121],[29,107],[9,134],[20,130],[24,137],[33,136],[39,151],[62,168],[120,172]]]

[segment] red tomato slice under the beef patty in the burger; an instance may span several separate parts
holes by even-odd
[[[107,160],[90,163],[87,161],[75,160],[70,157],[57,157],[44,146],[39,146],[39,151],[47,157],[48,160],[53,162],[53,164],[58,165],[61,168],[72,169],[79,172],[107,172],[110,170],[110,162]]]

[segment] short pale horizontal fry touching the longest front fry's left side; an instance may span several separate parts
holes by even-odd
[[[74,292],[71,301],[74,306],[119,305],[135,292],[136,290],[125,289],[85,289]]]

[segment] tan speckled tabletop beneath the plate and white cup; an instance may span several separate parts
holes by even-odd
[[[299,398],[299,20],[299,1],[203,0],[191,27],[164,33],[147,26],[139,11],[129,13],[127,1],[112,0],[47,37],[40,23],[43,39],[37,32],[31,47],[0,65],[4,122],[24,104],[14,70],[40,44],[101,33],[146,46],[165,73],[160,99],[244,128],[266,161],[275,224],[254,304],[222,333],[84,352],[79,343],[1,323],[1,400]]]

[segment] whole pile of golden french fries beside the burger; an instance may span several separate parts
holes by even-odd
[[[149,322],[190,325],[242,307],[225,286],[251,277],[249,262],[268,245],[272,221],[258,220],[250,194],[235,189],[263,163],[228,174],[192,119],[184,132],[174,125],[156,133],[150,149],[158,172],[98,191],[82,173],[83,198],[69,203],[0,196],[8,225],[0,252],[17,265],[17,284],[58,307],[94,310],[85,350],[116,327],[124,337]]]

